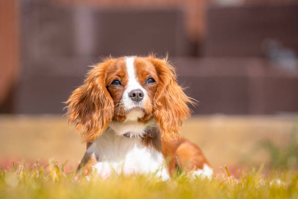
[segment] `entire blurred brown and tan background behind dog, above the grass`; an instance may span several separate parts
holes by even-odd
[[[103,56],[169,54],[215,169],[298,168],[297,0],[1,0],[0,166],[85,146],[63,117]]]

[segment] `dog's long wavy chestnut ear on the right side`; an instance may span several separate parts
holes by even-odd
[[[149,58],[158,74],[158,87],[153,100],[153,115],[164,139],[179,136],[179,129],[185,119],[190,117],[186,103],[194,104],[176,82],[176,73],[168,61]]]

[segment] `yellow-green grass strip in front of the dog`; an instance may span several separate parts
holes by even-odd
[[[0,170],[0,199],[192,199],[192,198],[298,198],[298,171],[252,169],[237,179],[228,177],[228,168],[213,179],[190,180],[185,174],[160,181],[151,175],[112,176],[109,179],[85,177],[63,172],[53,160],[47,167],[36,163],[32,168],[14,165]]]

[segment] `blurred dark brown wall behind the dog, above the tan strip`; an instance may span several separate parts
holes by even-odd
[[[1,39],[14,50],[8,53],[5,45],[0,47],[2,56],[7,53],[2,74],[8,74],[0,84],[6,99],[0,103],[5,108],[1,113],[63,113],[62,102],[99,56],[152,51],[159,56],[169,53],[179,84],[200,101],[193,108],[196,114],[298,112],[298,3],[7,2],[3,5],[8,20],[4,14],[1,19],[10,40]],[[15,62],[4,67],[9,60]]]

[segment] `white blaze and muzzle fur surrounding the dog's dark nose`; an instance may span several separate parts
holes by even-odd
[[[130,110],[132,108],[143,108],[144,101],[148,100],[148,93],[147,91],[141,86],[138,78],[136,77],[135,71],[134,71],[134,57],[125,57],[126,67],[127,67],[127,74],[128,74],[128,84],[125,88],[125,91],[123,92],[122,96],[122,102],[124,104],[124,107],[126,110]],[[144,93],[144,98],[142,101],[135,102],[132,101],[129,97],[129,93],[132,90],[140,89]]]

